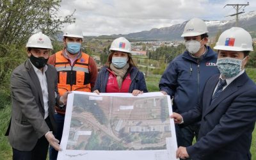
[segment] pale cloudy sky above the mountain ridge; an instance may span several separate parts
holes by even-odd
[[[228,20],[236,13],[225,4],[247,4],[244,12],[256,10],[256,1],[225,0],[62,0],[59,15],[76,9],[76,23],[84,35],[128,34],[163,28],[198,17],[205,20]]]

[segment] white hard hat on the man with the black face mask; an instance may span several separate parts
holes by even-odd
[[[26,47],[52,49],[52,42],[47,35],[39,32],[29,37]]]

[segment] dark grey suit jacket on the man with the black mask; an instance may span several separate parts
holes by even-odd
[[[55,131],[54,106],[60,99],[56,69],[48,65],[45,76],[49,94],[49,118]],[[8,139],[13,148],[30,151],[35,147],[36,141],[50,128],[44,120],[44,100],[40,81],[29,60],[13,70],[11,92],[12,120]]]

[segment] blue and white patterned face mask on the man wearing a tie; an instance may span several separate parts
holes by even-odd
[[[244,59],[243,59],[244,60]],[[220,58],[217,60],[217,67],[222,76],[231,78],[237,76],[242,70],[242,61],[236,58]]]

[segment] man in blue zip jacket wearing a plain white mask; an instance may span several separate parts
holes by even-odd
[[[173,111],[184,113],[193,108],[204,88],[205,81],[218,74],[217,54],[207,46],[207,26],[201,19],[191,19],[181,35],[186,51],[170,62],[161,77],[159,88],[173,99]],[[192,145],[198,136],[199,124],[175,126],[178,146]]]

